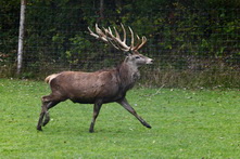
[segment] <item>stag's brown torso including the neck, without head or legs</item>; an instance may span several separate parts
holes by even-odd
[[[134,87],[139,76],[138,70],[132,70],[123,63],[117,68],[94,72],[63,71],[47,77],[46,81],[50,84],[52,92],[58,94],[58,100],[94,104],[98,100],[102,103],[122,100]]]

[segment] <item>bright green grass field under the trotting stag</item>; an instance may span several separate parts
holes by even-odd
[[[239,90],[134,89],[127,94],[147,129],[117,104],[64,102],[36,130],[43,82],[0,79],[0,158],[240,158]]]

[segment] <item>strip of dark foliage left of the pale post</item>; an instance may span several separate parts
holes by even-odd
[[[18,15],[18,0],[0,1],[0,67],[9,66],[15,59],[20,24]]]

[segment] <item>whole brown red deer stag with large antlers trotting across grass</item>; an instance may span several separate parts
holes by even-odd
[[[122,25],[122,24],[121,24]],[[71,100],[74,103],[93,104],[93,117],[90,124],[89,132],[93,132],[96,119],[99,115],[102,104],[116,102],[125,109],[132,114],[144,127],[151,128],[135,109],[128,104],[126,100],[126,92],[131,89],[140,74],[139,66],[144,64],[152,64],[152,59],[143,56],[138,52],[144,43],[147,38],[141,39],[137,37],[138,43],[134,44],[134,32],[129,27],[131,34],[130,47],[126,44],[126,30],[122,25],[124,39],[122,40],[119,34],[114,27],[115,36],[111,28],[100,29],[96,24],[96,34],[88,27],[90,35],[104,42],[111,43],[115,49],[127,53],[124,62],[116,68],[98,70],[94,72],[84,71],[62,71],[53,74],[46,78],[46,82],[50,84],[52,93],[42,96],[41,112],[37,124],[37,130],[42,130],[50,116],[48,110],[59,104],[60,102]],[[43,121],[45,118],[45,121]]]

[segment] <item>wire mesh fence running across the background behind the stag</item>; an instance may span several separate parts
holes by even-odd
[[[118,13],[104,8],[100,15],[99,8],[94,6],[36,6],[28,3],[22,74],[26,78],[43,77],[61,70],[92,71],[119,64],[124,53],[91,37],[87,27],[94,29],[98,23],[100,27],[115,26],[123,34],[119,27],[123,23],[148,39],[140,52],[153,58],[154,65],[142,68],[143,80],[151,79],[150,83],[156,85],[178,87],[193,79],[201,80],[202,76],[209,78],[212,85],[228,82],[227,87],[238,87],[239,11],[189,9],[176,3],[140,15],[129,9]],[[20,18],[16,14],[2,12],[0,16],[0,72],[4,77],[15,71]],[[220,77],[220,81],[215,79]],[[198,85],[207,82],[199,81]]]

